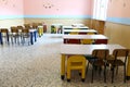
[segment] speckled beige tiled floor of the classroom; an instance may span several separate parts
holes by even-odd
[[[62,80],[61,44],[61,37],[43,35],[32,46],[0,46],[0,87],[130,87],[130,80],[123,84],[121,67],[114,84],[109,70],[106,84],[102,75],[96,75],[91,84],[91,67],[84,83],[77,72],[73,72],[70,83]]]

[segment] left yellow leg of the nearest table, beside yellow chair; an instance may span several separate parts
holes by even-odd
[[[65,78],[65,54],[61,55],[61,78]]]

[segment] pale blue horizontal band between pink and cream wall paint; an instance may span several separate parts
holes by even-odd
[[[91,18],[91,15],[0,15],[0,20],[13,18]],[[106,21],[130,25],[130,17],[107,17]]]

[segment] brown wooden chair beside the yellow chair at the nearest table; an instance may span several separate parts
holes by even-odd
[[[106,59],[109,54],[108,49],[95,49],[92,51],[92,60],[88,60],[89,63],[92,64],[92,79],[91,83],[93,83],[93,75],[95,66],[102,67],[104,66],[104,83],[106,83]],[[101,72],[101,71],[100,71]]]

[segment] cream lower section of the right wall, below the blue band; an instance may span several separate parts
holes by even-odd
[[[108,37],[109,44],[119,44],[130,48],[130,26],[116,23],[106,23],[105,35]]]

